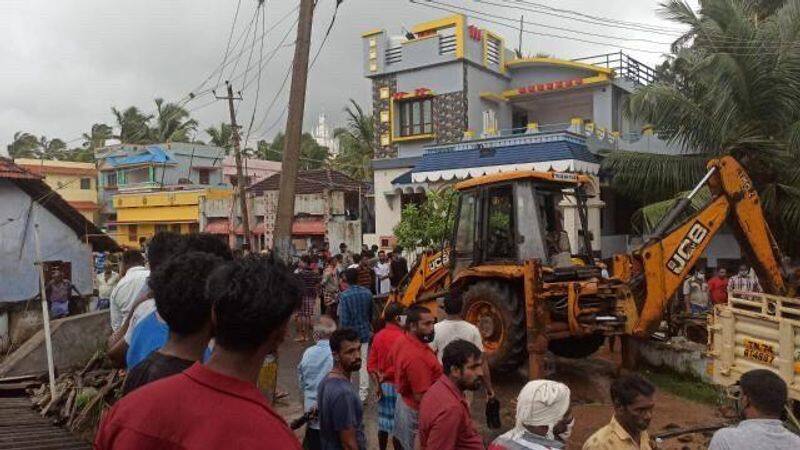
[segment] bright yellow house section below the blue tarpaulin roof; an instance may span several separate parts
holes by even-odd
[[[200,231],[200,205],[206,200],[231,197],[224,188],[120,193],[114,196],[116,231],[110,234],[122,246],[139,248],[139,239],[160,231],[180,234]]]

